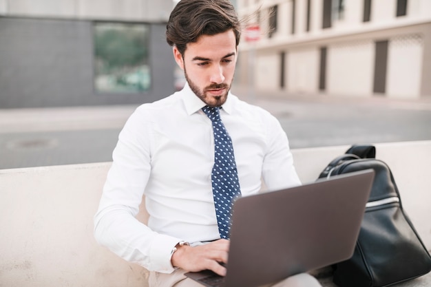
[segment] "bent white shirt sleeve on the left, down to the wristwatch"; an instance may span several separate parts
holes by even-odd
[[[151,171],[148,125],[135,111],[120,132],[94,216],[94,237],[129,262],[171,273],[171,251],[181,239],[158,234],[136,219]]]

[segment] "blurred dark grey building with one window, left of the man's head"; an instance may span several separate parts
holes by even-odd
[[[172,0],[0,0],[0,108],[146,103],[174,92]]]

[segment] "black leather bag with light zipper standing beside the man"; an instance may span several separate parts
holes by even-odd
[[[333,265],[339,287],[383,287],[425,275],[431,257],[403,210],[397,184],[372,145],[353,145],[335,158],[319,178],[363,169],[375,170],[353,257]]]

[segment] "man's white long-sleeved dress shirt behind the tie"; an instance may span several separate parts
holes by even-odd
[[[181,240],[220,238],[211,170],[214,141],[204,103],[188,85],[141,105],[120,132],[98,212],[96,240],[129,262],[171,273]],[[300,184],[288,139],[278,120],[229,94],[220,110],[233,141],[243,196]],[[147,226],[135,216],[145,195]],[[252,212],[252,211],[251,211]]]

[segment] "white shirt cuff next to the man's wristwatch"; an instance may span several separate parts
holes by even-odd
[[[174,266],[171,264],[172,249],[180,241],[176,237],[158,234],[151,245],[151,269],[160,273],[174,272]]]

